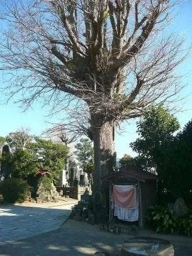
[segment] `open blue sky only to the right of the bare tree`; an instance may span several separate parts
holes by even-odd
[[[168,26],[168,31],[174,31],[176,34],[184,36],[186,39],[186,48],[192,44],[192,1],[183,1],[179,9],[176,9],[176,17]],[[183,89],[180,97],[185,97],[183,101],[178,102],[180,112],[174,113],[182,127],[192,119],[192,52],[188,54],[188,59],[178,67],[179,74],[186,74],[182,80],[187,86]],[[136,134],[136,121],[130,121],[121,125],[120,134],[116,135],[117,157],[123,157],[123,154],[135,155],[129,147],[138,136]]]

